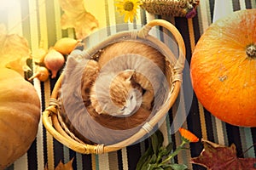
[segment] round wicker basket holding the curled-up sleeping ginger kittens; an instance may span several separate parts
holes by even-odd
[[[168,31],[171,31],[173,37],[175,38],[179,56],[176,58],[174,54],[172,54],[172,50],[166,46],[165,43],[161,42],[156,37],[149,35],[149,31],[154,26],[163,26]],[[169,65],[167,65],[166,70],[169,72],[166,78],[168,81],[168,85],[170,86],[170,91],[167,94],[167,99],[164,105],[161,106],[160,111],[158,111],[153,117],[150,118],[148,122],[145,122],[143,127],[141,127],[137,133],[133,134],[128,139],[120,141],[116,144],[86,144],[81,141],[77,136],[73,133],[69,132],[65,123],[61,122],[58,119],[58,115],[60,115],[59,106],[55,103],[55,100],[58,98],[58,92],[61,88],[61,82],[63,79],[63,73],[59,77],[58,81],[55,83],[55,88],[51,94],[51,99],[49,106],[43,113],[43,123],[44,127],[47,131],[59,142],[66,145],[68,148],[75,150],[82,154],[102,154],[110,151],[119,150],[124,148],[125,146],[134,144],[138,140],[142,139],[145,135],[152,133],[154,127],[162,121],[166,113],[172,107],[173,103],[177,99],[177,95],[179,94],[179,90],[181,87],[182,79],[183,79],[183,66],[185,60],[185,46],[183,42],[183,37],[177,31],[176,27],[166,20],[152,20],[148,22],[146,26],[140,31],[122,31],[111,37],[108,37],[106,41],[101,42],[93,49],[88,50],[87,54],[96,54],[97,51],[101,50],[106,44],[115,41],[125,41],[129,39],[137,39],[147,41],[149,43],[154,43],[154,45],[160,48],[160,52],[166,56],[166,60],[169,61]]]

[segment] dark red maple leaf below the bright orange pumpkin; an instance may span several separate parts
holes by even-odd
[[[200,156],[192,158],[192,163],[207,167],[210,170],[255,169],[256,158],[238,158],[235,144],[226,147],[204,139],[202,139],[202,142],[204,150],[202,150]]]

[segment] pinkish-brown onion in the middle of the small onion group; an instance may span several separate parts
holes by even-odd
[[[44,57],[44,65],[51,71],[51,78],[56,77],[57,72],[62,68],[64,63],[64,56],[54,48],[50,48],[48,54]]]

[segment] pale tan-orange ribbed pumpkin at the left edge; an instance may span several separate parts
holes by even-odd
[[[24,155],[38,133],[40,100],[16,71],[0,68],[0,169]]]

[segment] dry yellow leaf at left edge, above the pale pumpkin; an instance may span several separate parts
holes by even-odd
[[[29,70],[26,59],[30,58],[30,49],[25,37],[7,34],[5,26],[0,25],[0,66],[23,72]]]

